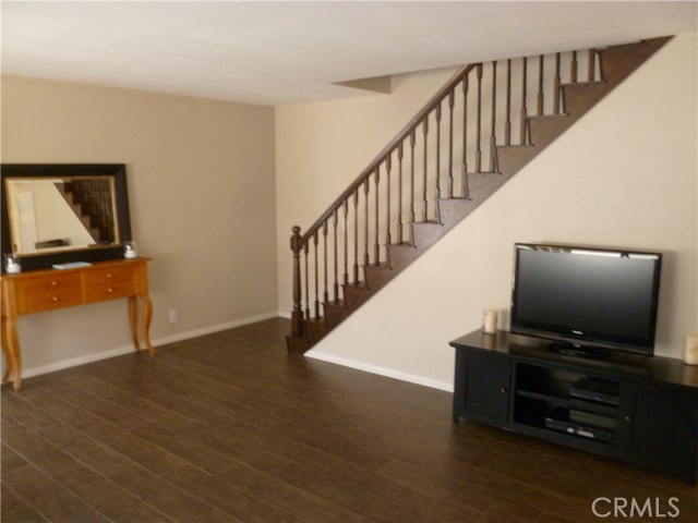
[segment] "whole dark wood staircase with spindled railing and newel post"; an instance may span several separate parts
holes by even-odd
[[[461,68],[303,234],[290,352],[304,353],[671,37]]]

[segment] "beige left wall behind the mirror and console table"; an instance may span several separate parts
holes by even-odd
[[[274,149],[273,108],[2,78],[3,162],[127,165],[154,341],[276,312]],[[25,375],[128,350],[128,330],[125,301],[22,317]]]

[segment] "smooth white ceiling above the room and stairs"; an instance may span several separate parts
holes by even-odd
[[[264,105],[333,85],[697,32],[694,1],[2,0],[2,72]]]

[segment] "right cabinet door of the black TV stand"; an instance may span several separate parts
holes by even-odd
[[[621,424],[626,425],[626,430],[623,440],[618,441],[618,453],[629,461],[695,484],[698,466],[696,394],[651,384],[629,388],[635,389],[628,394],[635,401],[621,413]]]

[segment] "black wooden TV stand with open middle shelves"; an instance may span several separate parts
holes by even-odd
[[[696,483],[698,367],[622,353],[580,358],[505,331],[477,330],[450,345],[454,423],[471,419]]]

